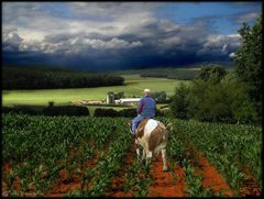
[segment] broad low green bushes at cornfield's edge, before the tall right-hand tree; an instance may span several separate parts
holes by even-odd
[[[196,79],[189,89],[178,88],[170,103],[176,118],[194,118],[202,122],[257,123],[257,110],[246,93],[249,85],[233,73],[218,84]],[[186,97],[187,96],[187,97]],[[187,102],[186,102],[187,101]]]

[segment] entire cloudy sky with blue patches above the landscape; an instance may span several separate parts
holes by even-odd
[[[261,1],[2,2],[3,64],[120,70],[233,62]]]

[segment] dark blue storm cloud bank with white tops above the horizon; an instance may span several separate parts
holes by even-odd
[[[110,37],[100,33],[48,35],[43,42],[23,43],[18,34],[16,48],[3,48],[3,62],[32,65],[58,65],[79,69],[124,69],[152,66],[183,66],[199,62],[227,60],[238,47],[238,36],[210,36],[199,26],[161,29],[148,23],[138,27],[142,34]],[[166,35],[162,37],[162,35]],[[200,40],[191,35],[199,35]],[[12,38],[12,37],[11,37]],[[18,41],[15,43],[15,41]],[[10,51],[9,51],[10,52]]]

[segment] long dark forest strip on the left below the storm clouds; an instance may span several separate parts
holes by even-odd
[[[89,88],[123,85],[114,74],[75,71],[44,67],[2,67],[2,89]]]

